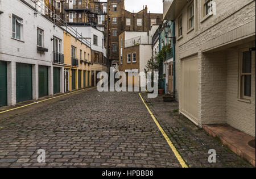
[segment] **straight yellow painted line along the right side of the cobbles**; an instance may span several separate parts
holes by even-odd
[[[139,96],[141,97],[142,102],[144,103],[144,105],[146,106],[148,113],[150,113],[151,117],[153,118],[156,126],[158,126],[160,132],[162,133],[162,135],[164,136],[164,138],[166,139],[167,143],[169,144],[169,146],[172,149],[172,152],[174,152],[174,155],[176,156],[177,160],[179,161],[180,165],[183,168],[188,168],[188,165],[185,164],[185,161],[182,159],[182,157],[180,156],[179,152],[177,152],[177,149],[175,148],[174,144],[172,144],[172,141],[168,138],[166,132],[164,132],[163,128],[160,126],[158,120],[156,120],[154,114],[152,114],[151,110],[149,109],[149,107],[147,106],[147,104],[144,102],[144,99],[141,96],[141,93],[139,93]]]

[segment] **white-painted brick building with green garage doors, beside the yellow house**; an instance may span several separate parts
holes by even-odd
[[[52,65],[53,51],[63,53],[63,30],[26,1],[0,1],[0,10],[0,67],[6,69],[1,105],[53,95],[54,67],[59,67],[58,91],[63,92],[63,67]]]

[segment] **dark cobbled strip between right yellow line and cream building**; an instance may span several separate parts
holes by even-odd
[[[142,97],[189,167],[253,167],[220,140],[180,115],[177,102],[164,103],[162,95],[147,98],[147,93],[143,93]],[[209,149],[216,150],[216,163],[208,162]]]

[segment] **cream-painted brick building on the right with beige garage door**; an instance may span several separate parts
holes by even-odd
[[[180,113],[255,137],[255,0],[165,0],[164,19],[175,22]]]

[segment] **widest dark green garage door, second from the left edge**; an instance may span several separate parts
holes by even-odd
[[[32,65],[16,63],[16,102],[32,99]]]

